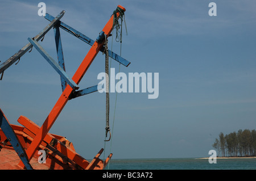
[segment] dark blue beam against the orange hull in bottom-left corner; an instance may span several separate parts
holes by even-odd
[[[22,145],[20,144],[19,139],[16,137],[16,134],[14,133],[13,128],[11,128],[9,121],[6,119],[1,109],[0,109],[0,128],[2,129],[3,133],[7,137],[8,141],[13,146],[16,153],[19,155],[19,158],[22,160],[26,169],[33,170],[32,166],[28,161],[26,152],[24,151]]]

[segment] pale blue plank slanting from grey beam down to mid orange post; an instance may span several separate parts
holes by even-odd
[[[30,37],[28,38],[28,41],[30,41],[30,43],[36,48],[36,50],[38,50],[40,54],[42,54],[44,58],[46,58],[53,69],[55,69],[57,73],[59,73],[60,76],[65,79],[65,81],[69,86],[72,87],[72,89],[79,89],[79,86],[71,78],[68,77],[67,73],[56,63],[56,61],[46,52],[46,50],[41,47],[37,41],[32,40]]]

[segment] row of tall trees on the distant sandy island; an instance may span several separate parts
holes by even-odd
[[[221,157],[252,157],[256,155],[256,131],[242,129],[238,132],[232,132],[224,135],[218,134],[215,139],[213,148],[218,151],[218,156]]]

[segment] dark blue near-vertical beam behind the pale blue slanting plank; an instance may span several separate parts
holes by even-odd
[[[65,70],[65,62],[64,62],[64,57],[63,57],[63,49],[62,49],[62,44],[61,44],[61,38],[60,38],[60,28],[59,28],[59,23],[56,24],[56,26],[53,28],[54,30],[54,36],[55,36],[55,44],[56,44],[56,50],[57,50],[57,58],[59,62],[59,66]],[[61,87],[62,91],[67,87],[67,82],[63,77],[60,76],[60,82],[61,82]]]

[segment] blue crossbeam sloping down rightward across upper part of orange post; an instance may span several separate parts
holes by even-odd
[[[46,13],[44,18],[51,21],[54,17],[49,15],[48,13]],[[61,21],[60,21],[60,28],[62,28],[63,30],[65,30],[69,33],[71,33],[71,35],[76,36],[78,39],[84,41],[85,43],[87,43],[91,46],[94,44],[94,40],[90,39],[88,36],[85,36],[81,32],[75,30],[74,28],[68,26],[67,24],[65,24]],[[104,47],[102,47],[102,49],[100,51],[104,52]],[[123,58],[123,57],[119,56],[118,54],[112,52],[111,50],[109,50],[109,57],[113,58],[115,61],[118,61],[120,64],[122,64],[124,66],[129,66],[130,63],[131,63],[131,62],[127,61],[125,58]]]

